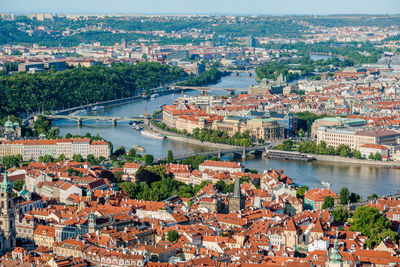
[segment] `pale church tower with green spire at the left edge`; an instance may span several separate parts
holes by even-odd
[[[16,243],[15,209],[7,172],[0,184],[0,252],[12,250]]]

